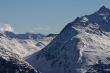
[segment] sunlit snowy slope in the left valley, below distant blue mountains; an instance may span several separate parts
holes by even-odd
[[[20,57],[28,56],[34,52],[37,52],[44,48],[52,39],[44,40],[20,40],[20,39],[8,39],[7,37],[0,36],[0,46],[18,54]]]

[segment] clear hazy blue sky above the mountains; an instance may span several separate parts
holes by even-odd
[[[59,33],[76,17],[91,14],[110,0],[0,0],[0,25],[16,32]]]

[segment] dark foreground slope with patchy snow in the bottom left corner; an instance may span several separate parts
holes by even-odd
[[[0,47],[0,73],[39,73],[17,54]]]

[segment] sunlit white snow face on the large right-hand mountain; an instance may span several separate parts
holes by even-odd
[[[80,34],[76,36],[77,38],[80,38],[78,44],[80,58],[78,61],[81,62],[81,58],[84,56],[87,59],[87,65],[98,64],[99,59],[103,63],[109,64],[110,61],[106,58],[110,56],[110,36],[104,34],[96,35],[94,33],[90,34],[85,32],[85,29],[76,28],[76,30],[80,32]]]

